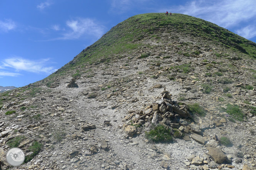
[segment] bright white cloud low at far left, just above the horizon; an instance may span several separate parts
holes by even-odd
[[[47,73],[51,74],[55,72],[57,69],[53,67],[48,67],[47,62],[49,59],[41,59],[38,61],[23,59],[21,57],[12,57],[9,59],[5,59],[2,63],[2,67],[7,68],[10,67],[15,69],[16,71],[27,71],[33,73]]]

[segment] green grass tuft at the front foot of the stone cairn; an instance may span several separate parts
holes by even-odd
[[[149,141],[153,142],[171,142],[171,130],[166,129],[163,125],[158,125],[149,132],[145,132],[145,136]]]

